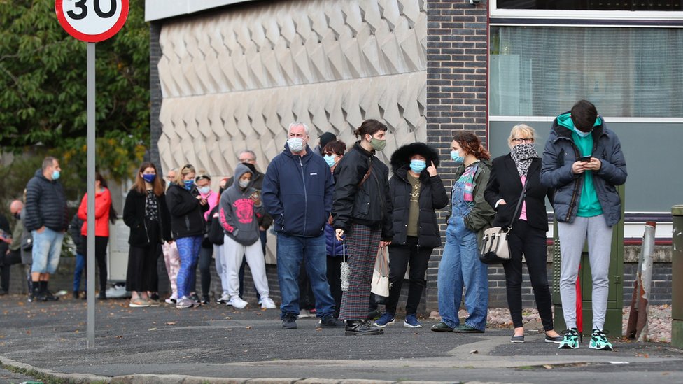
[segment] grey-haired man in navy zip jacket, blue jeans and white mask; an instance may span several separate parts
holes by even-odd
[[[343,327],[337,320],[335,301],[328,284],[325,222],[332,211],[335,180],[321,156],[308,145],[309,128],[302,122],[289,125],[285,149],[269,164],[262,198],[277,233],[278,281],[282,295],[282,327],[295,329],[299,315],[299,271],[302,262],[316,298],[321,327]]]

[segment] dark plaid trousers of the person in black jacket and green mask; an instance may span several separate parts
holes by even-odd
[[[351,225],[346,234],[346,257],[351,276],[348,276],[348,291],[342,294],[342,308],[339,311],[342,320],[367,318],[370,282],[380,240],[381,229],[372,230],[360,224]]]

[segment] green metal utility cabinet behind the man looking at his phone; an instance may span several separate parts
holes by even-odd
[[[617,187],[621,197],[621,220],[612,229],[612,254],[610,256],[610,292],[607,296],[607,313],[605,314],[605,330],[610,336],[621,336],[621,318],[624,310],[624,185]],[[682,207],[683,209],[683,207]],[[683,220],[683,218],[682,218]],[[553,304],[555,307],[555,329],[566,329],[560,297],[561,252],[558,238],[557,222],[554,222],[553,236]],[[683,227],[682,227],[683,229]],[[588,243],[584,244],[579,269],[579,286],[582,295],[582,334],[590,336],[593,328],[593,278],[588,255]],[[683,319],[683,318],[682,318]]]

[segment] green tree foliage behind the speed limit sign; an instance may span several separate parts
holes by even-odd
[[[62,155],[85,178],[86,43],[62,29],[54,0],[0,0],[0,145]],[[96,45],[97,166],[128,178],[149,143],[149,27],[131,0],[121,31]]]

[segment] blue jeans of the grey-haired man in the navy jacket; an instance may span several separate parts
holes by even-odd
[[[299,315],[299,271],[302,261],[311,280],[311,290],[316,298],[318,318],[335,315],[335,299],[328,284],[328,261],[325,235],[316,237],[278,234],[277,268],[282,304],[280,318]]]

